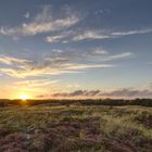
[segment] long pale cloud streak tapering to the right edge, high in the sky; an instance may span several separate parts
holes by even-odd
[[[102,39],[114,39],[119,38],[124,36],[130,36],[130,35],[143,35],[143,34],[150,34],[152,33],[152,28],[147,29],[137,29],[137,30],[99,30],[99,29],[75,29],[74,31],[67,30],[61,31],[58,35],[50,35],[46,38],[46,41],[52,43],[52,42],[61,42],[61,43],[67,43],[67,42],[77,42],[83,40],[102,40]]]

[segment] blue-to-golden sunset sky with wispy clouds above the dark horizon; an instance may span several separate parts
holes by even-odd
[[[152,98],[151,0],[0,0],[0,98]]]

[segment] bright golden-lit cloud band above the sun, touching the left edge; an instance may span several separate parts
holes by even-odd
[[[62,73],[77,73],[87,68],[114,67],[114,65],[111,64],[75,63],[71,56],[56,56],[56,54],[51,58],[46,58],[41,62],[10,56],[1,58],[0,62],[10,65],[10,67],[0,68],[0,73],[12,77],[58,75]]]

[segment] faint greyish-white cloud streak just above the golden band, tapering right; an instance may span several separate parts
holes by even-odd
[[[87,50],[65,49],[65,50],[53,50],[54,56],[48,60],[68,60],[73,62],[86,61],[86,62],[105,62],[105,61],[117,61],[122,59],[129,59],[134,56],[132,52],[121,52],[110,53],[102,47],[90,48]]]

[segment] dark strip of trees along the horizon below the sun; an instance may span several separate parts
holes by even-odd
[[[114,99],[105,99],[105,100],[0,100],[0,106],[9,106],[9,105],[40,105],[48,104],[51,106],[55,105],[110,105],[110,106],[123,106],[123,105],[141,105],[141,106],[152,106],[152,99],[135,99],[135,100],[114,100]]]

